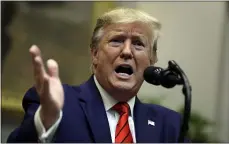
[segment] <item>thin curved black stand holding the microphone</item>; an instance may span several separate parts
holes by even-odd
[[[183,81],[182,93],[185,96],[184,112],[183,112],[183,121],[182,121],[182,125],[180,128],[180,134],[179,134],[179,139],[178,139],[179,143],[183,143],[185,136],[187,134],[188,128],[189,128],[188,123],[189,123],[190,112],[191,112],[191,91],[192,91],[192,88],[191,88],[191,85],[189,83],[189,80],[188,80],[186,74],[180,68],[180,66],[174,60],[169,61],[168,64],[169,64],[168,69],[177,73]]]

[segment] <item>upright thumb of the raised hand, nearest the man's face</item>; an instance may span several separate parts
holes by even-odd
[[[47,61],[48,74],[53,77],[59,77],[59,68],[55,60],[49,59]]]

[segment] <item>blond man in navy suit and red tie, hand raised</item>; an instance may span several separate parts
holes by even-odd
[[[136,96],[145,68],[157,61],[160,27],[134,9],[99,17],[91,41],[93,75],[79,86],[61,84],[55,60],[47,61],[46,72],[32,46],[35,87],[24,96],[24,120],[8,142],[178,142],[179,114]]]

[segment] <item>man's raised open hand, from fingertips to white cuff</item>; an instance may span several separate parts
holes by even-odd
[[[29,50],[32,56],[35,87],[40,97],[40,117],[46,129],[58,119],[64,105],[64,90],[59,78],[59,68],[55,60],[47,61],[47,72],[40,49],[33,45]]]

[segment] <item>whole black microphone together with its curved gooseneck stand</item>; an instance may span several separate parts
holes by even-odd
[[[192,89],[186,74],[180,68],[180,66],[173,60],[169,61],[168,65],[169,66],[166,69],[150,66],[145,69],[143,77],[146,82],[156,86],[161,85],[165,88],[172,88],[176,85],[183,85],[182,93],[185,96],[184,112],[180,128],[180,135],[178,138],[178,142],[183,143],[189,128]]]

